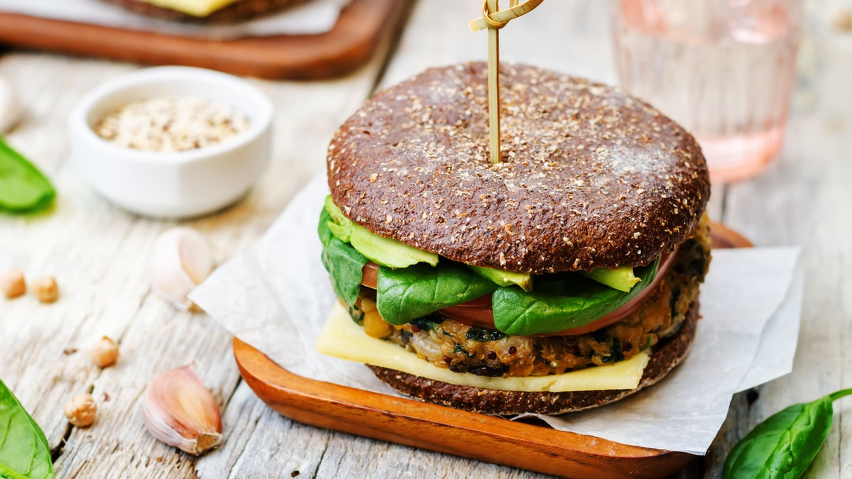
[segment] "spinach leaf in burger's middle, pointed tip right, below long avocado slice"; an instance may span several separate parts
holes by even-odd
[[[441,262],[433,268],[416,264],[408,268],[378,268],[377,309],[392,325],[485,296],[497,289],[492,280],[463,264]]]

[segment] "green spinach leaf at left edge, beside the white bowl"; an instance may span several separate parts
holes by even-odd
[[[49,180],[0,136],[0,211],[32,213],[56,197]]]

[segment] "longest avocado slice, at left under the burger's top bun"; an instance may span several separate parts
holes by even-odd
[[[354,249],[370,259],[373,263],[389,268],[406,268],[412,264],[438,264],[438,255],[429,251],[418,250],[412,246],[372,234],[367,228],[355,224],[343,216],[343,211],[331,201],[331,195],[325,197],[325,211],[331,215],[334,222],[328,223],[331,234],[338,240],[352,244]]]

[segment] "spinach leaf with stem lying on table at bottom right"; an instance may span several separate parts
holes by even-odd
[[[832,401],[844,395],[852,390],[794,404],[757,424],[728,454],[724,477],[802,476],[832,429]]]

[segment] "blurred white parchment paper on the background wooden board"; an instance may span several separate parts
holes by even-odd
[[[227,39],[269,35],[315,35],[328,32],[350,0],[311,0],[233,25],[195,25],[148,18],[101,0],[0,0],[0,11],[53,20],[66,20],[125,30],[168,33],[187,37]]]

